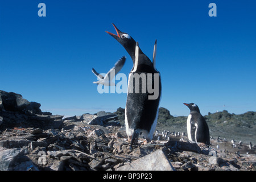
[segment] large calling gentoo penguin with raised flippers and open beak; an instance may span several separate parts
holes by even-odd
[[[125,107],[126,134],[128,140],[131,140],[130,148],[133,148],[133,144],[137,142],[141,132],[146,138],[144,143],[147,143],[152,139],[158,119],[158,107],[162,93],[162,84],[160,73],[155,67],[156,42],[154,45],[152,63],[151,60],[141,51],[138,43],[136,43],[129,34],[118,30],[114,24],[113,26],[117,32],[117,35],[108,31],[106,32],[122,44],[133,60],[133,68],[129,73]],[[141,76],[137,82],[135,75]],[[150,79],[152,80],[151,85],[148,84],[148,80]],[[147,81],[143,82],[143,80]],[[139,85],[139,93],[136,93],[136,85]],[[154,85],[155,91],[158,92],[155,98],[150,98],[150,96],[152,96],[152,92],[148,92],[148,88],[152,88],[152,85]],[[143,86],[146,88],[145,92],[142,90]]]

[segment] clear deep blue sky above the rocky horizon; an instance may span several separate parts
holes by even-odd
[[[46,17],[38,4],[46,4]],[[217,16],[210,17],[209,3]],[[152,57],[163,95],[160,106],[188,115],[256,111],[256,1],[1,1],[0,89],[39,102],[43,111],[81,115],[125,107],[126,94],[99,94],[91,69],[109,71],[126,56],[105,31],[115,25]],[[224,107],[225,105],[225,107]]]

